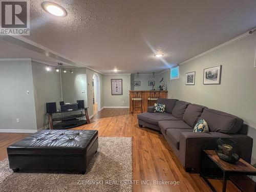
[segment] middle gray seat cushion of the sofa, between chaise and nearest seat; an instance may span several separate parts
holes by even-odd
[[[159,121],[158,126],[165,132],[167,129],[190,129],[193,131],[193,127],[189,126],[187,123],[185,123],[185,121],[179,119]]]

